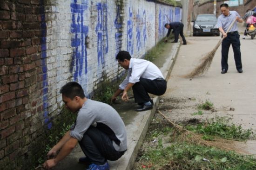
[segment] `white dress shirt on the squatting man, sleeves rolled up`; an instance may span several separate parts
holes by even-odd
[[[119,89],[125,89],[129,82],[140,82],[141,77],[155,80],[157,78],[163,78],[163,75],[160,69],[158,69],[154,63],[144,59],[131,58],[128,74],[123,82],[119,85]]]

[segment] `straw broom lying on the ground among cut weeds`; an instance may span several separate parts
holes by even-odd
[[[177,125],[176,123],[169,120],[159,110],[158,110],[158,113],[160,113],[172,126],[174,126],[176,130],[178,130],[179,132],[183,132],[186,137],[190,137],[191,138],[190,141],[194,141],[197,144],[202,144],[202,145],[209,146],[209,147],[216,147],[216,148],[223,149],[226,151],[236,151],[237,153],[240,153],[240,154],[249,154],[248,152],[240,151],[235,147],[232,148],[232,145],[230,145],[230,143],[232,143],[232,141],[227,140],[227,139],[216,139],[216,141],[203,140],[202,135],[196,134],[194,132],[191,132],[191,131],[185,129],[184,127],[182,127],[180,125]]]

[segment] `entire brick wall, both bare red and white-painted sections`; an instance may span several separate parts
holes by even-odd
[[[88,97],[123,72],[119,50],[143,57],[182,9],[148,0],[0,0],[0,169],[28,169],[79,82]],[[55,125],[56,126],[56,125]]]

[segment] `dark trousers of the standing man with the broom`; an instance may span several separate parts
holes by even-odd
[[[241,51],[240,51],[240,40],[239,33],[233,32],[228,33],[228,36],[222,41],[222,69],[229,69],[228,57],[229,57],[229,47],[232,44],[234,58],[236,62],[236,69],[242,69],[242,59],[241,59]]]

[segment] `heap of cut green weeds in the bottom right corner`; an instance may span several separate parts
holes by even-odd
[[[203,160],[205,158],[205,160]],[[138,158],[135,170],[151,165],[150,170],[255,170],[256,159],[251,156],[221,151],[213,147],[175,142],[171,146],[148,148]]]

